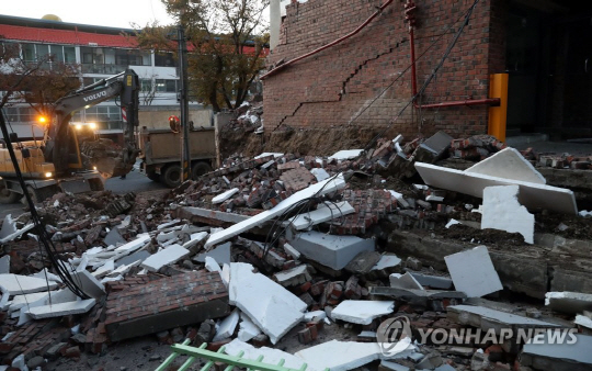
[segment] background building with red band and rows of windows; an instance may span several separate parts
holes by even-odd
[[[84,86],[129,67],[140,78],[140,111],[179,112],[179,74],[173,55],[138,49],[133,34],[134,30],[0,15],[0,41],[19,43],[25,61],[52,54],[55,60],[79,64]],[[191,103],[190,111],[191,119],[201,125],[212,124],[210,110]],[[8,106],[5,113],[21,137],[31,136],[32,131],[36,136],[42,135],[38,127],[31,126],[36,114],[27,104]],[[102,136],[116,136],[123,127],[122,112],[115,101],[78,112],[72,122],[96,123]],[[162,122],[162,127],[168,126],[168,122]]]

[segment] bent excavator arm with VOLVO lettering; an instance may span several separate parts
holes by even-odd
[[[114,146],[101,142],[102,148],[109,150],[93,150],[96,145],[88,145],[87,157],[102,173],[114,176],[129,172],[139,153],[135,137],[135,127],[138,126],[139,79],[132,69],[96,81],[59,99],[55,104],[55,115],[45,139],[45,158],[55,166],[56,173],[65,173],[69,169],[70,154],[76,151],[81,156],[79,148],[72,148],[73,131],[70,125],[72,114],[89,109],[113,98],[119,98],[124,109],[124,148],[114,150]],[[83,146],[84,147],[84,146]],[[90,149],[89,149],[90,148]],[[114,154],[114,151],[119,151]]]

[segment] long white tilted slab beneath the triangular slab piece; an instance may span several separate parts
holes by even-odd
[[[519,202],[530,210],[549,210],[565,214],[578,214],[573,192],[563,188],[464,172],[424,162],[415,162],[415,169],[423,181],[432,187],[482,199],[483,189],[487,187],[516,184],[520,187]]]

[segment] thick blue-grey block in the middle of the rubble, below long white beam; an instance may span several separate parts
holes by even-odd
[[[289,238],[289,236],[288,236]],[[306,232],[292,238],[289,244],[305,257],[331,269],[343,269],[362,251],[374,251],[374,239],[355,236],[334,236]]]

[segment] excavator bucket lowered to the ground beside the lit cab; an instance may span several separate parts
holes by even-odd
[[[125,149],[111,139],[101,138],[84,142],[80,148],[86,165],[94,168],[103,178],[121,177],[134,167],[134,160],[126,158]]]

